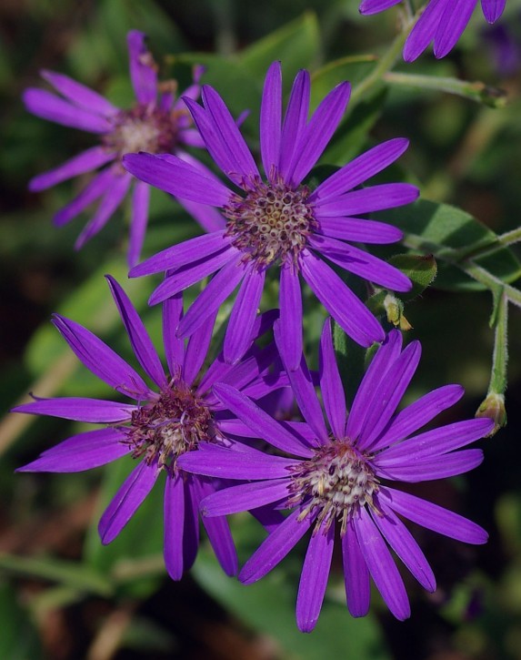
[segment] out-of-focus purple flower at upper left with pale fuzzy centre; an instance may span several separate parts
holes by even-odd
[[[55,225],[61,227],[96,199],[100,200],[93,218],[76,240],[76,249],[82,248],[88,239],[105,227],[134,184],[128,248],[128,261],[133,266],[139,260],[145,239],[150,190],[125,172],[121,166],[122,157],[133,151],[179,153],[178,148],[182,145],[204,145],[186,111],[185,102],[175,97],[175,81],[158,83],[157,67],[145,47],[145,35],[132,30],[127,41],[130,77],[136,100],[130,109],[115,107],[92,89],[51,71],[43,71],[42,76],[62,97],[31,87],[25,90],[24,102],[27,110],[37,117],[81,128],[100,137],[101,145],[87,149],[29,183],[33,191],[45,190],[108,164],[75,199],[55,214]],[[185,90],[185,97],[199,95],[198,82],[202,72],[201,67],[195,67],[194,85]],[[180,156],[187,157],[183,153]],[[207,226],[204,228],[214,229],[212,218],[208,214],[206,216]]]

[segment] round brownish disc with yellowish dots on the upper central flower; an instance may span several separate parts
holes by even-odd
[[[259,265],[277,259],[295,263],[317,224],[308,195],[306,186],[292,189],[283,180],[257,179],[245,198],[234,195],[225,206],[226,236],[233,237],[232,244],[245,252],[246,259]]]

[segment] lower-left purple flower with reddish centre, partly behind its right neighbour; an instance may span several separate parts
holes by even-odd
[[[199,374],[212,337],[215,318],[208,319],[188,343],[175,338],[183,314],[182,296],[167,300],[163,309],[165,357],[169,375],[161,365],[143,322],[115,279],[108,277],[115,304],[125,325],[135,357],[155,383],[151,389],[125,360],[102,340],[75,321],[55,315],[55,327],[87,369],[133,403],[87,398],[37,399],[15,411],[52,415],[66,420],[103,424],[82,432],[42,453],[18,472],[81,472],[105,465],[125,454],[138,461],[116,492],[99,523],[103,543],[121,532],[145,500],[160,474],[165,474],[165,565],[179,580],[195,561],[199,543],[198,503],[214,492],[218,482],[194,477],[179,469],[178,457],[212,442],[230,442],[228,431],[238,429],[237,420],[215,398],[212,386],[228,383],[255,398],[286,386],[284,372],[269,371],[277,351],[272,343],[255,346],[235,366],[219,355],[207,371]],[[268,330],[275,312],[255,320],[254,334]],[[197,375],[199,374],[199,376]],[[238,429],[240,430],[240,429]],[[205,519],[205,529],[226,574],[236,573],[236,555],[224,517]]]

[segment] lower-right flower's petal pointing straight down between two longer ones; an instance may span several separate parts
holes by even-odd
[[[342,537],[342,560],[347,609],[352,616],[366,616],[371,600],[369,570],[356,539],[352,520],[347,523],[346,534]]]

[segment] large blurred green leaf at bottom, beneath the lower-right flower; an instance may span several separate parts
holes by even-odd
[[[356,660],[385,660],[390,657],[371,615],[354,619],[345,604],[327,597],[313,633],[300,633],[295,619],[296,585],[280,569],[258,583],[240,584],[226,577],[215,558],[201,550],[193,574],[229,612],[256,631],[275,638],[284,649],[283,657],[287,657],[286,654],[303,660],[347,656]]]

